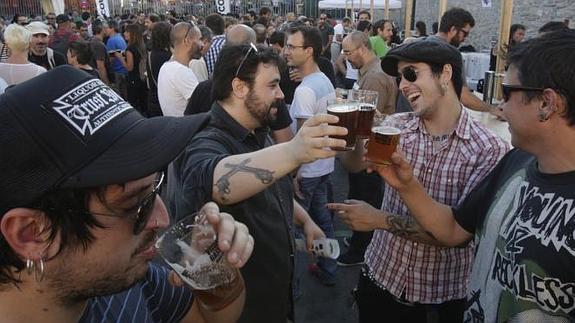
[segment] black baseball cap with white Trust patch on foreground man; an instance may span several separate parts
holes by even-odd
[[[206,121],[145,118],[71,66],[9,88],[0,96],[0,216],[60,188],[125,183],[162,170]]]

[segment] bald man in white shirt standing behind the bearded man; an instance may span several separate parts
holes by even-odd
[[[158,100],[165,116],[183,116],[188,99],[198,85],[198,79],[188,67],[192,58],[200,58],[200,29],[193,23],[180,22],[170,33],[172,59],[160,68]]]

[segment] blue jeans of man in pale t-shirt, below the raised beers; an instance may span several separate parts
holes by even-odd
[[[303,199],[298,202],[309,213],[312,220],[323,230],[327,238],[335,239],[333,228],[333,214],[327,209],[326,204],[331,199],[331,181],[329,174],[321,177],[302,178],[299,182],[299,189]],[[318,267],[324,275],[333,278],[337,269],[335,259],[318,257]]]

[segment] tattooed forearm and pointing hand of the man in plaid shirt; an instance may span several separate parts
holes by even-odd
[[[390,214],[357,200],[347,200],[346,203],[330,203],[328,208],[355,231],[387,230],[405,239],[437,246],[447,246],[437,240],[431,233],[423,229],[410,216]]]

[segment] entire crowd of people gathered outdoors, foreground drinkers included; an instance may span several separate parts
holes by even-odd
[[[565,22],[528,40],[511,27],[494,106],[466,84],[462,8],[407,39],[369,11],[29,20],[0,25],[2,320],[293,322],[295,240],[335,239],[335,216],[346,253],[307,270],[331,288],[361,266],[360,323],[575,319]],[[336,88],[377,92],[376,119],[401,132],[391,165],[362,140],[338,152]],[[506,120],[511,142],[468,109]],[[223,294],[156,259],[158,234],[198,211],[241,273]]]

